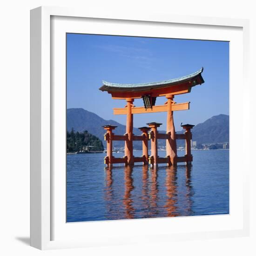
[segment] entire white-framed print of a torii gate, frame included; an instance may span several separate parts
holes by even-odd
[[[248,235],[248,29],[32,10],[31,245]]]

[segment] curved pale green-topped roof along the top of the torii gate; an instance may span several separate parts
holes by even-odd
[[[108,92],[138,92],[145,91],[156,88],[165,88],[173,85],[184,84],[185,82],[191,81],[191,87],[204,83],[202,78],[203,67],[193,74],[182,76],[179,78],[159,81],[159,82],[150,82],[150,83],[138,83],[138,84],[118,84],[102,81],[103,85],[99,88],[101,91]]]

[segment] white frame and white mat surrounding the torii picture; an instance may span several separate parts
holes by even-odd
[[[97,24],[100,26],[97,27],[94,20],[97,20]],[[83,22],[87,22],[86,26]],[[163,26],[161,33],[167,33],[168,36],[170,27],[166,32],[164,27],[173,26],[175,28],[175,26],[179,26],[179,32],[173,30],[174,33],[185,34],[176,34],[175,38],[206,40],[214,40],[215,38],[217,40],[217,31],[219,31],[220,39],[229,40],[231,38],[230,150],[232,154],[230,156],[230,169],[234,170],[234,175],[230,177],[230,203],[232,207],[228,217],[215,216],[215,219],[211,219],[212,216],[200,216],[88,222],[86,227],[83,223],[64,223],[65,175],[61,176],[60,173],[53,171],[56,169],[56,165],[61,164],[63,167],[63,164],[66,164],[62,161],[64,155],[66,157],[66,152],[63,155],[61,150],[59,153],[54,151],[54,140],[59,140],[62,146],[66,143],[65,141],[61,142],[58,135],[54,133],[55,129],[61,128],[61,126],[57,127],[57,124],[62,125],[65,121],[63,120],[64,112],[61,112],[61,109],[64,106],[64,101],[66,104],[66,83],[63,80],[63,78],[65,79],[63,67],[65,67],[66,61],[63,47],[65,47],[66,42],[62,40],[62,36],[67,32],[85,33],[83,32],[84,27],[88,28],[87,33],[100,34],[102,23],[106,25],[104,29],[108,29],[108,27],[109,31],[115,29],[113,32],[115,34],[142,35],[140,26],[145,26],[145,28],[147,26],[148,28],[151,28],[150,26]],[[192,33],[196,30],[198,32],[203,30],[205,33],[197,34],[194,38]],[[210,30],[208,34],[212,35],[207,34],[208,30]],[[149,31],[153,30],[143,30],[143,35],[147,35],[150,33]],[[109,33],[111,34],[111,32]],[[150,36],[160,36],[154,31],[151,33],[153,34]],[[58,36],[56,36],[57,34]],[[57,42],[57,40],[60,41]],[[54,43],[58,43],[58,50],[54,48]],[[240,148],[235,144],[232,145],[232,138],[235,138],[237,132],[240,132],[241,140],[249,141],[249,134],[246,129],[249,124],[249,114],[245,111],[246,108],[249,108],[249,101],[245,101],[245,99],[249,99],[248,65],[248,20],[171,14],[154,15],[152,13],[93,13],[62,7],[39,7],[31,10],[31,246],[38,249],[63,249],[108,244],[151,243],[153,241],[150,238],[152,234],[155,242],[168,242],[170,239],[189,240],[248,236],[249,156],[246,155],[244,145]],[[51,70],[53,66],[54,70]],[[243,72],[238,74],[239,70]],[[60,80],[58,80],[59,78]],[[53,84],[60,86],[54,87]],[[243,84],[243,87],[240,86],[238,91],[239,84]],[[63,86],[65,86],[65,90]],[[237,97],[239,97],[239,104],[236,102]],[[236,125],[234,114],[232,117],[232,113],[235,112],[242,118],[243,122],[240,126]],[[66,127],[64,128],[66,129]],[[62,129],[62,131],[64,130]],[[236,163],[236,159],[241,159],[241,161]],[[242,165],[243,175],[239,177],[238,168]],[[238,182],[240,182],[240,188],[236,189]],[[56,200],[56,198],[60,200]],[[215,222],[219,223],[219,226]],[[148,224],[150,224],[150,230]],[[171,227],[172,230],[165,229],[166,226]],[[136,227],[139,227],[138,230],[135,230]],[[126,232],[121,230],[126,230]],[[139,230],[142,231],[139,232]],[[117,232],[118,235],[116,236],[115,233]],[[133,233],[136,233],[136,236]]]

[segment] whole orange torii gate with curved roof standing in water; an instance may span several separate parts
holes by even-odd
[[[111,166],[113,163],[125,163],[125,165],[133,165],[135,162],[143,162],[143,164],[157,165],[158,163],[167,163],[168,165],[176,165],[177,162],[191,163],[193,158],[190,151],[190,140],[192,134],[190,129],[193,125],[183,125],[186,132],[175,134],[175,126],[173,120],[173,111],[189,109],[190,102],[176,103],[174,96],[178,94],[190,93],[191,88],[204,83],[202,78],[203,68],[193,74],[183,76],[168,81],[141,83],[141,84],[116,84],[103,81],[101,91],[107,91],[112,95],[112,99],[126,100],[127,105],[124,108],[114,108],[114,115],[126,115],[126,134],[115,135],[113,130],[116,126],[106,125],[107,130],[105,140],[107,141],[107,156],[105,163]],[[155,106],[156,97],[165,96],[167,101],[164,105]],[[144,107],[135,107],[134,99],[143,99]],[[133,115],[167,112],[166,134],[159,134],[157,128],[160,123],[148,123],[149,127],[141,127],[142,135],[135,136],[133,134]],[[151,131],[148,133],[148,131]],[[166,157],[158,157],[157,140],[166,140]],[[186,155],[177,157],[176,139],[186,140]],[[151,155],[148,156],[148,140],[151,140]],[[112,155],[112,141],[125,141],[125,155],[123,158],[115,158]],[[133,141],[142,141],[142,156],[134,157]]]

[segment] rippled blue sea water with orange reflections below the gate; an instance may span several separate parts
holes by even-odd
[[[192,154],[189,168],[156,169],[106,169],[105,153],[67,155],[67,222],[229,214],[229,150]]]

